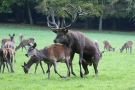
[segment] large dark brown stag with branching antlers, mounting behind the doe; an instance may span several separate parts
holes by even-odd
[[[70,57],[70,64],[71,64],[71,72],[73,75],[75,73],[73,72],[73,66],[72,66],[72,60],[74,58],[75,53],[79,54],[79,66],[80,66],[80,76],[83,77],[82,73],[82,61],[84,56],[89,56],[89,58],[86,60],[87,62],[91,62],[93,64],[95,75],[98,74],[97,66],[100,59],[99,53],[95,45],[92,43],[90,39],[88,39],[86,36],[84,36],[81,32],[74,32],[71,30],[68,30],[73,23],[77,20],[79,15],[83,15],[84,12],[82,12],[82,9],[79,8],[79,10],[76,8],[76,6],[71,5],[70,6],[74,9],[75,15],[73,16],[69,11],[66,9],[64,10],[66,14],[71,18],[71,24],[66,25],[65,19],[63,18],[62,23],[60,25],[60,22],[58,24],[55,22],[54,12],[55,10],[48,8],[48,11],[50,14],[47,16],[47,24],[50,29],[53,30],[57,34],[56,38],[54,39],[54,43],[61,43],[63,45],[66,45],[68,48],[71,48],[71,57]],[[50,21],[50,16],[52,17],[52,21]]]

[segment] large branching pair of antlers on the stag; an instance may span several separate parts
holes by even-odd
[[[58,25],[55,22],[54,12],[56,10],[53,10],[53,9],[51,10],[49,7],[47,7],[48,11],[50,12],[50,14],[47,16],[47,24],[48,24],[48,27],[50,29],[52,29],[52,30],[68,30],[68,28],[70,28],[73,25],[73,23],[77,20],[78,16],[84,14],[84,12],[82,12],[82,9],[80,7],[79,7],[79,10],[78,10],[75,5],[70,4],[70,6],[74,9],[75,15],[73,17],[73,15],[69,11],[64,9],[66,14],[71,18],[71,24],[66,25],[65,19],[63,18],[61,27],[60,27],[60,22],[59,21],[58,21]],[[52,22],[49,21],[50,15],[52,17]]]

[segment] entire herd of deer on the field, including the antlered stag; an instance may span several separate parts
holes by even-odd
[[[81,8],[79,7],[79,10],[74,6],[71,5],[71,8],[74,9],[75,15],[72,16],[72,14],[64,9],[64,12],[71,18],[71,24],[66,25],[65,19],[63,18],[62,23],[58,20],[58,24],[55,22],[54,13],[56,10],[53,10],[49,7],[49,15],[47,16],[47,24],[50,29],[53,30],[53,32],[56,33],[56,38],[54,39],[54,43],[50,46],[45,46],[43,49],[38,50],[36,49],[37,44],[34,42],[34,38],[29,39],[23,39],[23,35],[20,34],[20,44],[19,46],[15,47],[15,40],[13,34],[12,36],[9,34],[10,39],[2,39],[1,41],[1,49],[0,49],[0,70],[1,66],[3,65],[3,71],[5,64],[8,68],[8,64],[10,65],[11,72],[14,72],[13,70],[13,58],[15,61],[15,51],[17,51],[19,48],[22,47],[26,49],[25,46],[28,46],[26,56],[30,56],[31,58],[27,63],[24,62],[24,65],[22,65],[24,72],[28,73],[28,70],[30,67],[36,63],[35,66],[35,73],[37,70],[37,66],[40,63],[40,66],[42,68],[43,73],[44,69],[42,67],[42,61],[45,62],[48,66],[48,70],[46,73],[48,73],[48,79],[50,79],[50,67],[54,66],[54,71],[57,73],[61,78],[69,77],[70,72],[76,76],[76,74],[73,71],[73,65],[72,61],[74,58],[75,53],[79,54],[79,66],[80,66],[80,76],[83,77],[84,75],[87,75],[89,73],[88,65],[93,65],[95,70],[95,76],[98,75],[98,62],[102,58],[102,53],[99,49],[99,42],[97,40],[91,41],[89,38],[87,38],[84,34],[81,32],[75,32],[72,30],[69,30],[69,28],[73,25],[73,23],[76,21],[79,15],[83,15]],[[50,21],[51,18],[51,21]],[[33,43],[31,45],[30,43]],[[60,43],[60,44],[58,44]],[[113,48],[107,40],[103,41],[104,43],[104,50],[108,51],[115,51],[115,48]],[[132,41],[127,41],[122,48],[120,49],[120,52],[124,49],[130,49],[130,52],[132,52]],[[67,75],[62,76],[57,71],[57,62],[64,62],[67,66]],[[82,68],[84,69],[84,73],[82,73]],[[71,71],[70,71],[71,70]]]

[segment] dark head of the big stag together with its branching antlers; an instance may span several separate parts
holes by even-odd
[[[56,38],[54,39],[54,43],[63,43],[66,41],[67,39],[67,34],[68,34],[68,29],[73,25],[73,23],[75,23],[75,21],[77,20],[77,18],[79,17],[79,15],[83,15],[84,12],[82,12],[82,9],[79,7],[79,10],[77,9],[76,6],[70,4],[71,8],[74,9],[74,16],[69,12],[67,11],[66,9],[64,9],[64,12],[70,17],[71,19],[71,23],[69,25],[66,25],[65,23],[65,19],[63,18],[62,19],[62,22],[60,22],[58,20],[58,24],[55,22],[55,17],[54,17],[54,13],[57,11],[57,10],[54,10],[54,9],[50,9],[49,7],[48,8],[48,11],[49,11],[49,15],[47,16],[47,24],[48,24],[48,27],[50,29],[53,30],[53,32],[55,32],[57,34]],[[50,16],[52,18],[52,20],[50,21]]]

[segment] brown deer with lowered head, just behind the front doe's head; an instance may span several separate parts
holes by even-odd
[[[18,46],[16,46],[15,51],[17,51],[21,47],[22,47],[22,50],[23,50],[23,47],[26,49],[25,46],[30,46],[30,43],[33,43],[34,44],[34,40],[35,40],[34,38],[29,38],[29,39],[26,39],[26,40],[22,40],[20,42],[20,44]]]

